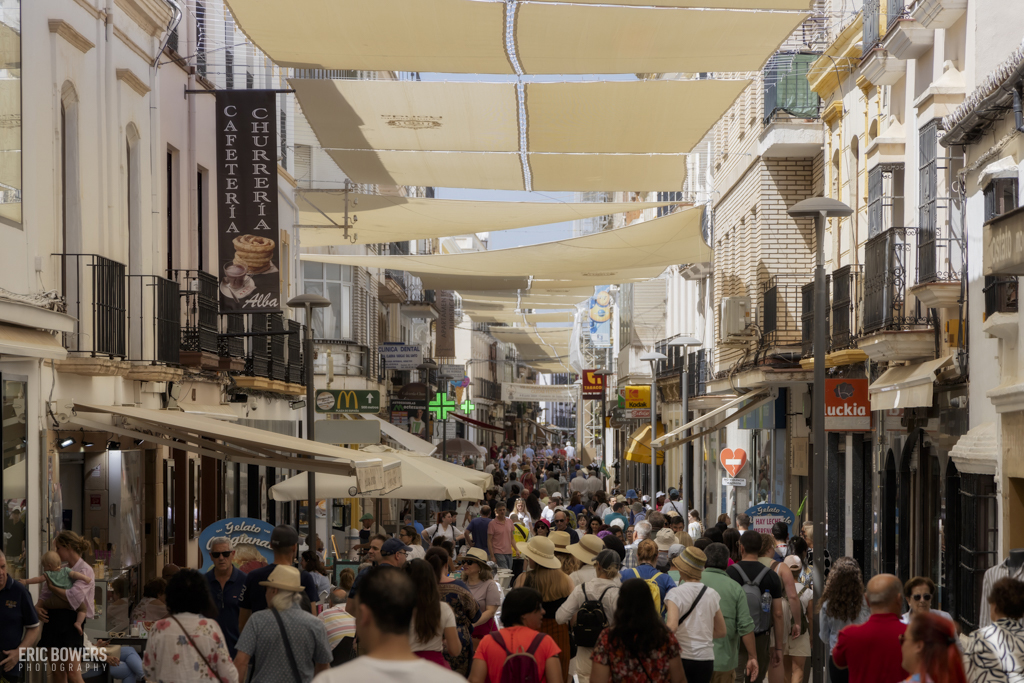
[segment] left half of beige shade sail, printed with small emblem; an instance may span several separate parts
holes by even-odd
[[[288,82],[322,147],[519,150],[512,83],[299,78]]]

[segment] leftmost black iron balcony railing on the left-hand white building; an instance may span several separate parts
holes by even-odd
[[[54,254],[75,331],[63,336],[71,353],[125,358],[127,292],[124,263],[98,254]]]

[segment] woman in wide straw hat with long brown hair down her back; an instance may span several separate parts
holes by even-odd
[[[561,559],[555,554],[555,544],[550,538],[536,536],[526,543],[520,543],[519,552],[526,558],[527,570],[516,579],[516,588],[532,588],[541,594],[544,605],[541,633],[551,636],[561,650],[558,654],[561,673],[565,683],[568,683],[569,627],[567,624],[558,624],[555,616],[575,587],[572,580],[562,571]]]

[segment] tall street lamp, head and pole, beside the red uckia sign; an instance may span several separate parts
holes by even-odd
[[[825,539],[825,339],[827,338],[825,311],[828,292],[825,288],[824,231],[825,218],[843,218],[853,214],[853,209],[827,197],[812,197],[795,204],[787,212],[793,218],[814,218],[814,400],[811,422],[814,425],[814,476],[811,481],[811,514],[814,524],[814,542],[819,552],[814,553],[815,604],[821,600],[824,577]],[[811,639],[814,651],[811,671],[815,680],[824,680],[824,648],[817,638]]]

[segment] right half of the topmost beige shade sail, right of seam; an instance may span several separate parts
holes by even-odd
[[[516,51],[527,74],[758,71],[807,16],[525,2]]]

